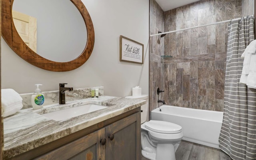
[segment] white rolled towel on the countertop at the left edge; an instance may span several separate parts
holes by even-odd
[[[22,107],[22,98],[13,89],[1,89],[2,116],[7,117],[18,112]]]

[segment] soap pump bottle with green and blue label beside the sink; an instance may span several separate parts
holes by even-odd
[[[34,110],[43,108],[44,104],[44,94],[42,94],[41,90],[39,89],[39,86],[42,86],[42,84],[35,84],[35,86],[37,86],[37,88],[34,94],[31,96],[31,104]]]

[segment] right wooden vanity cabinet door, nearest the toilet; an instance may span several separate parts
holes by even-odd
[[[106,160],[140,160],[140,112],[106,126],[106,138]]]

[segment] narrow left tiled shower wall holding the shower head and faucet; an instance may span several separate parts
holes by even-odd
[[[155,0],[150,0],[150,34],[157,34],[158,31],[164,32],[164,11]],[[158,107],[157,88],[164,88],[163,84],[163,60],[161,55],[164,55],[164,38],[153,36],[150,38],[150,94],[149,94],[149,110],[154,110]],[[159,97],[161,99],[161,97]],[[151,116],[150,116],[151,119]]]

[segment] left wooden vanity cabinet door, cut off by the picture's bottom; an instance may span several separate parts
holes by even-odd
[[[105,138],[105,128],[70,142],[36,160],[105,160],[105,146],[100,141]]]

